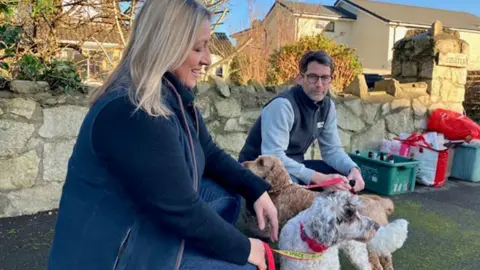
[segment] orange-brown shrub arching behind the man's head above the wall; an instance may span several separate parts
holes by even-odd
[[[298,62],[301,57],[313,50],[324,50],[332,57],[335,64],[332,85],[337,90],[343,90],[362,72],[361,63],[354,49],[318,34],[302,37],[295,43],[283,46],[272,53],[267,84],[279,85],[293,81],[299,74]]]

